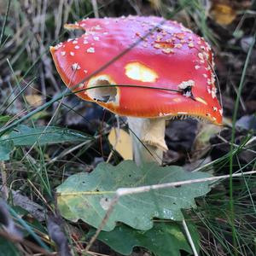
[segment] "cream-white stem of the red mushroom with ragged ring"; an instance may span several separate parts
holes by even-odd
[[[168,149],[165,142],[166,120],[128,117],[128,125],[137,166],[152,161],[161,165],[163,152]]]

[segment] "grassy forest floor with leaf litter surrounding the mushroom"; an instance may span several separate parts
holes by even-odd
[[[66,218],[70,209],[61,218],[55,191],[67,177],[127,159],[124,147],[113,150],[108,138],[112,127],[128,131],[125,118],[75,95],[61,96],[66,86],[49,53],[50,45],[75,36],[65,23],[97,15],[177,20],[212,46],[224,125],[168,121],[163,165],[230,175],[184,216],[201,255],[256,255],[256,178],[231,178],[256,170],[256,1],[249,0],[0,1],[0,255],[129,255],[128,241],[132,255],[172,251],[163,239],[147,233],[147,240],[144,231],[119,224],[85,254],[95,225]],[[173,250],[191,255],[188,244],[173,244]]]

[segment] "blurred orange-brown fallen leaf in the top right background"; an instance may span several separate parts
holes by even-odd
[[[227,26],[236,19],[236,10],[229,5],[216,3],[212,7],[211,15],[219,25]]]

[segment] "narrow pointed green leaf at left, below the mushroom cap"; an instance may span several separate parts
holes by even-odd
[[[39,126],[29,127],[26,125],[18,125],[9,133],[9,140],[12,140],[15,146],[31,146],[34,143],[45,145],[47,143],[65,143],[65,142],[84,142],[92,140],[82,132],[73,131],[67,128],[55,126]],[[3,137],[0,138],[0,143]]]

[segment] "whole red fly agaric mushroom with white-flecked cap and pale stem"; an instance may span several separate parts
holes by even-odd
[[[221,125],[211,48],[188,28],[137,16],[65,27],[84,34],[50,48],[61,79],[82,99],[128,117],[137,164],[161,163],[166,119],[195,117]]]

